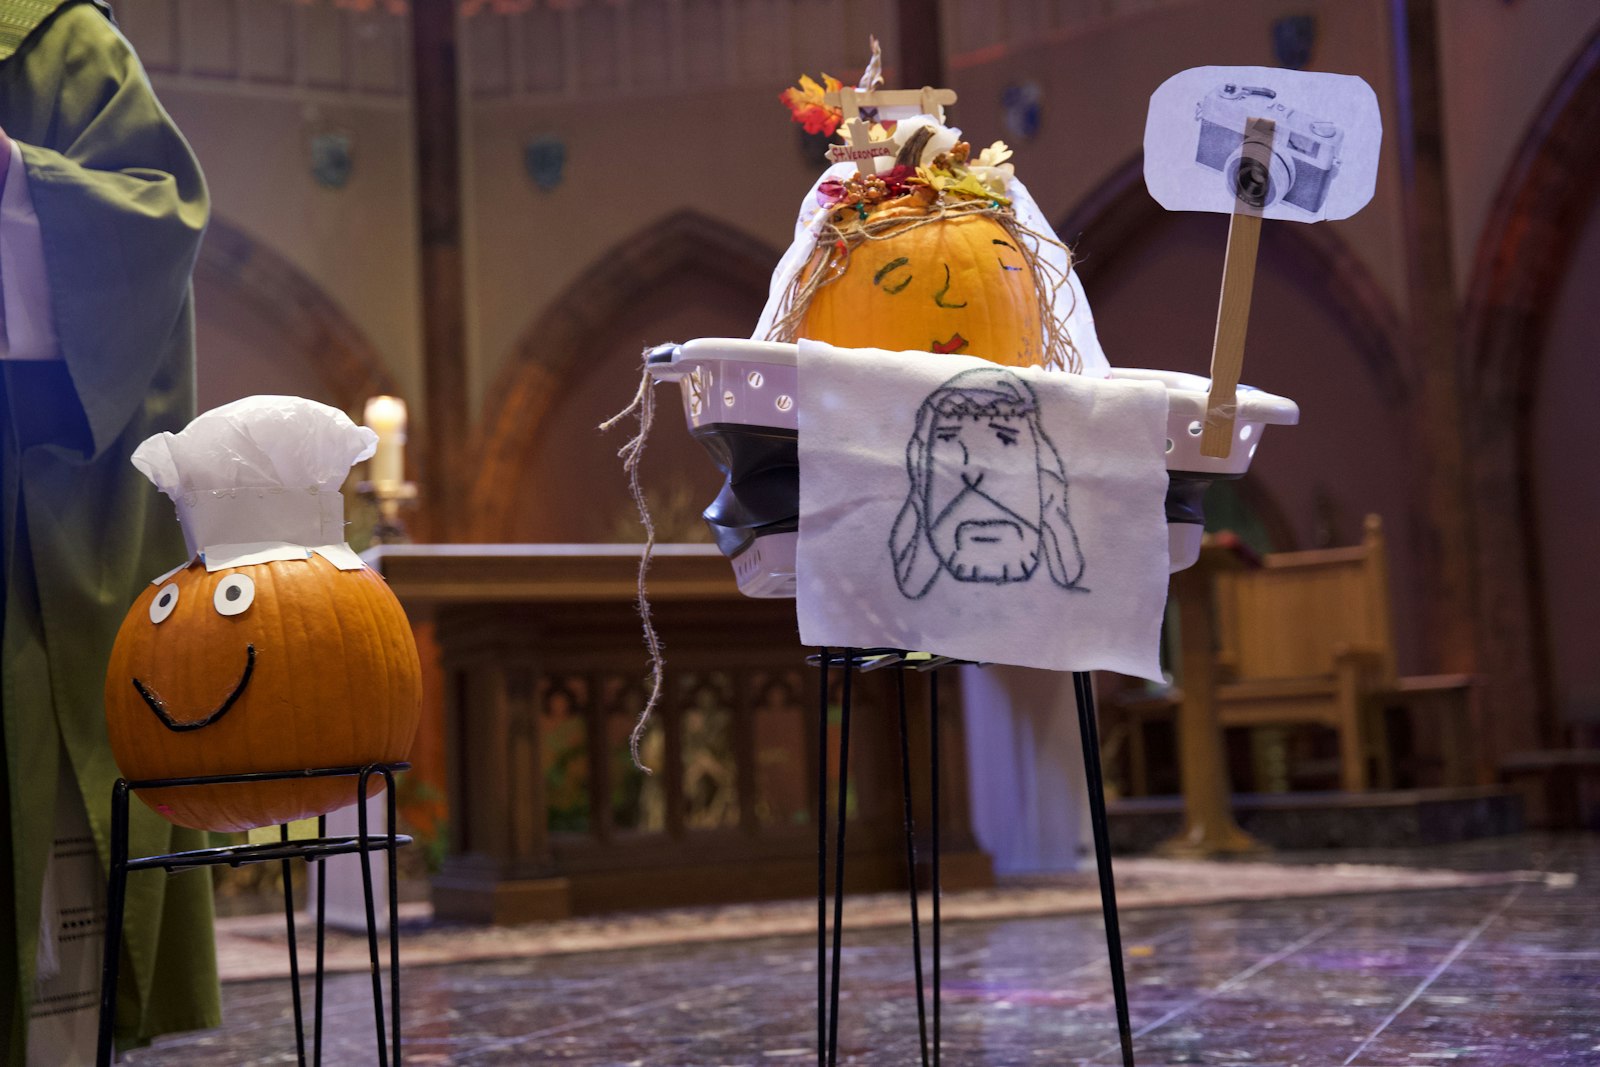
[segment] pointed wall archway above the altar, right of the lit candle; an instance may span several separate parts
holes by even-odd
[[[597,424],[634,394],[645,346],[749,336],[778,258],[696,211],[653,222],[600,254],[534,318],[496,376],[474,450],[467,536],[634,539],[614,458],[632,427],[602,437]],[[656,403],[645,485],[666,520],[659,536],[699,536],[694,515],[720,478],[683,429],[677,390],[659,389]]]

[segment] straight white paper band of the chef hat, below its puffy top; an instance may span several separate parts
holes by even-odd
[[[344,541],[344,498],[325,490],[277,486],[190,490],[178,498],[178,522],[189,550],[206,555],[206,569],[216,569],[211,558],[222,545],[302,545],[304,558],[312,545]],[[264,541],[266,531],[277,536]]]

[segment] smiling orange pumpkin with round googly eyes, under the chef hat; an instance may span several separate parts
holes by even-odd
[[[106,672],[112,755],[133,781],[400,761],[421,699],[400,601],[373,571],[320,555],[190,563],[134,601]],[[245,830],[349,806],[355,789],[320,777],[139,795],[179,825]]]

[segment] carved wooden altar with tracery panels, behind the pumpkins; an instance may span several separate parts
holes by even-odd
[[[658,545],[650,603],[666,646],[642,755],[629,733],[648,662],[638,545],[382,545],[366,555],[443,672],[450,849],[440,918],[520,923],[816,891],[818,673],[792,600],[750,600],[712,545]],[[846,889],[904,888],[894,672],[858,675]],[[909,673],[926,857],[926,680]],[[837,688],[838,672],[832,672]],[[968,817],[958,686],[941,691],[942,883],[992,881]],[[837,713],[837,693],[829,707]],[[830,784],[832,790],[835,785]]]

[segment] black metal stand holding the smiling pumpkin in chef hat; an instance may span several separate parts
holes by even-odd
[[[106,957],[101,968],[101,1008],[99,1008],[99,1067],[110,1067],[112,1062],[112,1030],[117,1016],[117,969],[122,961],[122,920],[126,904],[128,873],[133,870],[162,869],[166,873],[189,870],[194,867],[216,867],[227,864],[240,867],[243,864],[262,864],[277,861],[283,864],[283,918],[288,925],[290,941],[290,982],[294,990],[294,1048],[298,1062],[306,1067],[306,1024],[301,1011],[301,976],[299,952],[294,944],[294,881],[290,861],[296,856],[307,862],[322,862],[328,856],[344,856],[357,853],[362,857],[362,891],[366,904],[366,945],[371,952],[373,973],[373,1022],[378,1030],[378,1064],[387,1067],[389,1046],[394,1048],[395,1067],[400,1067],[400,917],[397,910],[398,875],[395,872],[395,849],[410,845],[411,838],[395,833],[395,782],[394,773],[408,769],[410,763],[370,763],[366,766],[328,766],[309,771],[266,771],[259,774],[216,774],[210,777],[165,777],[130,782],[117,779],[112,787],[110,803],[110,877],[106,888]],[[384,797],[387,800],[389,832],[381,835],[368,833],[366,790],[373,776],[384,779]],[[357,833],[354,837],[328,837],[328,819],[317,819],[317,837],[291,841],[288,825],[278,827],[278,841],[267,845],[232,845],[227,848],[202,848],[187,853],[168,853],[163,856],[128,857],[128,795],[138,789],[171,789],[182,785],[234,785],[245,782],[275,782],[302,777],[355,777],[357,797]],[[378,958],[378,909],[373,902],[373,865],[374,851],[389,853],[389,1033],[384,1030],[384,990],[382,966]],[[322,989],[323,989],[323,942],[326,915],[326,878],[317,880],[317,973],[315,973],[315,1008],[312,1035],[312,1064],[322,1064]]]

